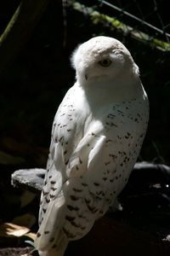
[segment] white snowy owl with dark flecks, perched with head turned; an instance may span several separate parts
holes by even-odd
[[[61,256],[116,202],[144,140],[149,102],[139,67],[115,38],[73,52],[76,83],[54,118],[35,246]]]

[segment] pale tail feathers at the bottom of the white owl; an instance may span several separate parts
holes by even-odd
[[[41,256],[62,256],[68,245],[68,238],[62,232],[63,219],[65,218],[65,197],[50,201],[42,224],[37,231],[34,245]]]

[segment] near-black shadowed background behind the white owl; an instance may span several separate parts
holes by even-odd
[[[142,22],[99,4],[99,1],[81,2],[148,33],[151,38],[168,42],[165,33],[156,32]],[[19,3],[17,0],[0,2],[1,33]],[[166,1],[112,3],[162,32],[169,32]],[[75,81],[75,71],[70,65],[71,52],[77,44],[94,36],[105,35],[121,40],[139,66],[150,99],[150,123],[139,160],[170,163],[170,52],[150,47],[149,40],[145,43],[136,40],[130,33],[113,30],[103,22],[94,25],[88,15],[69,6],[65,11],[66,17],[63,17],[62,3],[49,1],[31,37],[0,76],[0,196],[3,204],[0,223],[11,220],[19,211],[15,206],[20,206],[20,191],[10,185],[11,173],[20,168],[46,166],[54,114],[66,90]]]

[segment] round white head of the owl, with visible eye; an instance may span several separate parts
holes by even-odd
[[[115,38],[91,38],[77,47],[71,62],[81,84],[116,79],[122,75],[122,70],[127,75],[139,75],[130,52]]]

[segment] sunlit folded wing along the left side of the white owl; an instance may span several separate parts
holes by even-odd
[[[85,159],[87,160],[88,146],[86,139],[83,139],[81,127],[84,122],[80,120],[75,106],[77,94],[74,88],[67,92],[54,118],[47,172],[41,195],[40,227],[35,241],[38,249],[47,249],[50,247],[49,241],[53,241],[54,236],[60,236],[56,230],[60,230],[65,216],[64,184],[74,176],[78,165],[81,165],[83,170],[82,166],[85,166]],[[81,176],[80,172],[77,174],[78,177]]]

